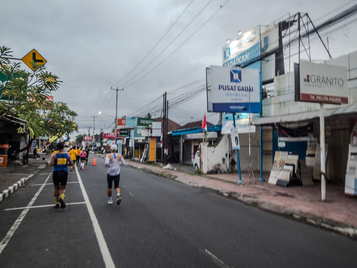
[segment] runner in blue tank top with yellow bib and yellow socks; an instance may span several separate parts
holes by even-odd
[[[68,169],[67,165],[74,165],[72,157],[70,154],[67,154],[63,151],[64,143],[59,142],[56,145],[58,153],[52,154],[50,160],[50,166],[54,166],[53,168],[53,183],[55,185],[55,199],[56,204],[54,208],[59,208],[61,204],[61,208],[65,208],[66,204],[63,201],[66,193],[66,184],[68,177]],[[61,192],[61,197],[60,197]]]

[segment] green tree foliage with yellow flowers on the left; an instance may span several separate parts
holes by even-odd
[[[0,119],[24,120],[17,129],[18,133],[27,131],[31,139],[35,137],[58,136],[71,134],[78,130],[74,122],[77,114],[71,111],[66,103],[54,102],[48,97],[59,89],[59,77],[46,71],[40,63],[31,62],[33,71],[21,69],[20,63],[6,59],[12,57],[12,51],[0,46],[0,71],[6,81],[0,86]],[[19,152],[27,147],[19,150]]]

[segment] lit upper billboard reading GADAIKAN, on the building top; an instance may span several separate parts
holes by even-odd
[[[223,66],[246,66],[260,56],[260,25],[223,46]]]

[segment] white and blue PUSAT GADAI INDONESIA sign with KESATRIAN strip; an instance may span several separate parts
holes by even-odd
[[[208,111],[260,113],[258,69],[211,65],[206,81]]]

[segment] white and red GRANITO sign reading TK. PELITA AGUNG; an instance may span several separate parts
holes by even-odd
[[[300,61],[294,72],[295,101],[348,104],[346,67]]]

